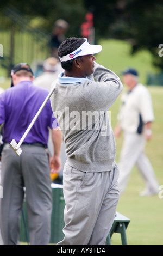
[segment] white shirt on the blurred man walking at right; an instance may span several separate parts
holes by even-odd
[[[118,113],[118,121],[126,132],[137,132],[140,115],[143,124],[154,121],[152,97],[148,89],[138,83],[131,92],[121,96],[122,106]]]

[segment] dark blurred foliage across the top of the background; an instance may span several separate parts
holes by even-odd
[[[0,7],[1,44],[1,32],[3,31],[4,33],[4,30],[9,31],[9,28],[12,29],[13,23],[14,31],[22,31],[21,20],[22,25],[25,21],[30,29],[33,28],[39,34],[42,34],[41,37],[37,37],[37,41],[39,41],[39,44],[41,41],[42,43],[44,41],[44,45],[46,46],[52,34],[54,22],[58,19],[64,19],[69,24],[65,37],[81,37],[83,36],[81,26],[86,21],[86,14],[92,13],[92,26],[94,29],[93,42],[97,44],[102,39],[127,41],[131,46],[131,56],[142,50],[149,51],[152,54],[153,66],[158,68],[160,74],[162,73],[163,58],[158,54],[160,50],[158,47],[162,43],[163,38],[162,0],[40,0],[39,2],[36,0],[6,0],[1,1]],[[3,18],[9,18],[9,10],[14,10],[16,15],[19,16],[20,21],[18,25],[15,22],[15,14],[12,15],[10,20]],[[8,24],[7,29],[4,29],[4,23]],[[28,35],[26,36],[28,38]],[[11,42],[11,40],[14,41],[17,39],[13,39],[13,36],[10,35],[6,41]],[[7,42],[5,43],[3,40],[3,44],[5,46]],[[42,49],[44,46],[39,47]],[[14,50],[12,48],[10,47],[8,49],[5,46],[5,50],[11,52],[10,56],[13,55],[12,51]],[[29,56],[29,53],[27,55]],[[6,67],[8,65],[11,68],[11,65],[19,62],[19,59],[14,60],[8,57],[7,63],[9,62],[10,65],[4,64],[4,66]]]

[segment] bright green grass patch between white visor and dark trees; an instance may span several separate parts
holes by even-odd
[[[153,67],[152,55],[147,50],[141,50],[133,56],[130,54],[131,46],[126,41],[110,39],[101,40],[99,44],[103,46],[103,50],[95,56],[96,61],[118,76],[121,76],[121,71],[126,67],[133,67],[139,71],[141,82],[146,83],[149,72],[158,72]]]

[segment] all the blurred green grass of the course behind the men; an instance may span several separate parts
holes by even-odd
[[[142,51],[136,56],[130,56],[130,46],[127,42],[116,40],[101,41],[103,51],[97,55],[96,61],[120,75],[126,66],[135,67],[140,73],[140,81],[146,84],[147,72],[155,72],[152,66],[152,58],[147,51]],[[1,76],[1,74],[0,74]],[[1,87],[10,86],[10,79],[0,84]],[[146,145],[146,153],[151,160],[159,185],[163,185],[163,87],[148,87],[152,94],[155,121],[153,123],[153,138]],[[120,97],[109,109],[111,111],[111,125],[116,125],[116,115],[120,106]],[[117,156],[120,154],[122,137],[116,139]],[[130,218],[127,228],[128,245],[163,245],[163,198],[158,195],[153,197],[140,197],[139,192],[143,190],[143,180],[134,167],[128,186],[120,197],[117,211]],[[162,192],[163,195],[163,192]],[[121,245],[120,234],[114,234],[111,239],[112,245]]]

